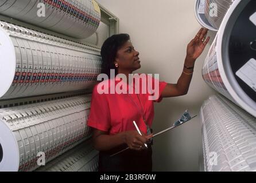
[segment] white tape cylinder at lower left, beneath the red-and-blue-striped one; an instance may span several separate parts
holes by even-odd
[[[79,96],[0,109],[0,171],[34,170],[39,152],[49,162],[90,137],[90,100]]]

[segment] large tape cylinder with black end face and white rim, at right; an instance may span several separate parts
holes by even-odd
[[[234,1],[227,11],[203,65],[203,78],[248,113],[256,117],[256,40],[252,18],[256,2]],[[245,31],[242,31],[246,29]]]

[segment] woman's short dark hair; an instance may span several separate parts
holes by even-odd
[[[102,56],[102,73],[107,74],[108,78],[110,78],[110,69],[115,69],[115,75],[118,74],[114,64],[117,51],[129,40],[129,34],[115,34],[104,41],[100,51]]]

